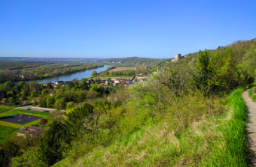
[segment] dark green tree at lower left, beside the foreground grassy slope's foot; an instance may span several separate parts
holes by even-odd
[[[41,159],[47,162],[48,166],[52,166],[56,161],[61,160],[62,153],[70,142],[71,136],[66,126],[59,121],[53,121],[39,142],[38,151]]]

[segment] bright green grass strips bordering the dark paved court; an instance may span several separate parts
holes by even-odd
[[[34,111],[26,111],[23,109],[14,109],[10,112],[5,112],[0,114],[0,117],[4,117],[4,116],[9,116],[9,115],[16,115],[16,114],[26,114],[26,115],[35,115],[35,116],[39,116],[39,117],[43,117],[43,118],[48,118],[48,116],[50,115],[50,113],[45,113],[45,112],[34,112]],[[28,124],[12,124],[9,122],[5,122],[5,121],[0,121],[0,125],[1,126],[5,126],[5,127],[13,127],[13,128],[20,128],[20,127],[29,127],[32,124],[38,124],[39,120],[36,121],[32,121]]]

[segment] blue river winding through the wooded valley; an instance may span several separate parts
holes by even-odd
[[[91,69],[91,70],[84,70],[84,71],[79,71],[77,73],[69,73],[69,74],[65,74],[62,76],[56,76],[56,77],[47,78],[47,79],[37,79],[37,80],[33,80],[33,81],[36,81],[40,84],[40,83],[45,83],[45,82],[55,83],[56,81],[72,81],[76,77],[80,80],[82,78],[90,77],[90,74],[93,73],[93,70],[96,70],[97,73],[99,73],[99,71],[106,70],[108,67],[110,67],[110,66],[104,65],[104,67],[99,67],[99,68],[95,68],[95,69]],[[29,82],[31,82],[31,81],[29,81]]]

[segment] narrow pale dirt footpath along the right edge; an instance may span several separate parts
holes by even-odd
[[[250,141],[250,148],[254,154],[251,155],[251,165],[256,166],[256,103],[248,96],[248,89],[242,93],[242,98],[245,100],[248,109],[248,124],[247,131]]]

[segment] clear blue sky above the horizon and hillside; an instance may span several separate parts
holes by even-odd
[[[173,58],[256,37],[255,0],[0,0],[0,56]]]

